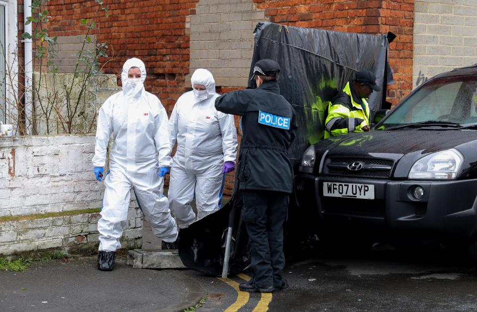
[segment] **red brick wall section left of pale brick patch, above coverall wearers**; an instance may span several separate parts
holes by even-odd
[[[105,64],[104,71],[120,74],[128,58],[143,60],[148,74],[146,89],[159,97],[170,114],[175,100],[185,91],[184,78],[189,72],[185,19],[195,14],[196,2],[198,0],[104,0],[109,8],[109,17],[106,17],[104,11],[96,15],[98,5],[93,0],[50,0],[50,34],[84,34],[81,18],[93,19],[97,27],[93,31],[96,41],[107,42],[108,55],[114,57]]]

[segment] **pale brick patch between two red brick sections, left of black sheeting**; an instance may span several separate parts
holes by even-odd
[[[253,30],[265,21],[265,11],[252,0],[199,0],[196,14],[188,16],[190,76],[207,68],[217,86],[246,87],[253,52]]]

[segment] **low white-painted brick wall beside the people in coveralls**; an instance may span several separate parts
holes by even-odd
[[[0,217],[99,208],[104,184],[92,172],[94,135],[0,137]],[[0,254],[96,246],[99,214],[0,222]],[[81,239],[82,238],[82,239]],[[123,247],[141,245],[134,192]]]

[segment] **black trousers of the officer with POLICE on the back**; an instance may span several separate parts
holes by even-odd
[[[279,286],[285,267],[283,224],[288,193],[242,190],[242,214],[251,245],[252,280],[260,287]]]

